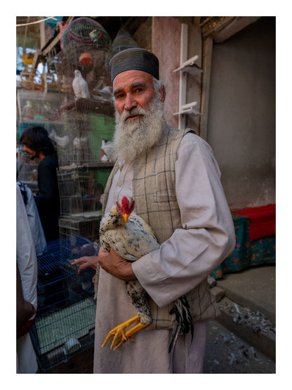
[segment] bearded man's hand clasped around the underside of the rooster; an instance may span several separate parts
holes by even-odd
[[[105,249],[100,247],[100,251],[98,252],[98,262],[101,268],[121,280],[129,281],[137,279],[135,277],[135,273],[133,273],[131,263],[123,259],[112,249],[110,252],[105,252]]]

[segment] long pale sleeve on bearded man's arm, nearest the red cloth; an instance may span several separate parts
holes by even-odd
[[[163,307],[192,290],[234,250],[230,209],[210,146],[187,134],[175,163],[175,188],[183,228],[133,263],[150,297]]]

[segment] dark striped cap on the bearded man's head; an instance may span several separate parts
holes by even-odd
[[[110,60],[112,82],[114,77],[126,70],[142,70],[159,80],[159,60],[145,48],[128,48],[115,54]]]

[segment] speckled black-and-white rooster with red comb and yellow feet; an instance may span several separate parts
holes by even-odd
[[[145,256],[155,249],[159,249],[159,243],[154,236],[152,228],[137,214],[133,213],[135,202],[132,197],[124,196],[117,200],[109,213],[107,213],[100,222],[100,245],[105,251],[119,254],[128,261],[135,261]],[[113,337],[111,349],[116,349],[124,344],[127,339],[132,339],[132,335],[152,323],[150,306],[147,301],[147,292],[143,289],[138,280],[126,282],[127,292],[131,302],[137,310],[137,316],[121,323],[111,330],[102,347],[105,346]],[[171,352],[175,345],[178,334],[184,334],[191,330],[192,337],[194,325],[190,315],[190,305],[185,295],[175,300],[171,309],[174,315],[174,327],[171,337],[171,343],[168,352]],[[130,325],[132,328],[124,331]],[[132,339],[133,340],[133,339]]]

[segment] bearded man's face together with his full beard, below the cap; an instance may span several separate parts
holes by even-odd
[[[128,70],[114,78],[113,87],[116,105],[114,155],[119,161],[132,162],[161,138],[164,86],[158,90],[151,74]]]

